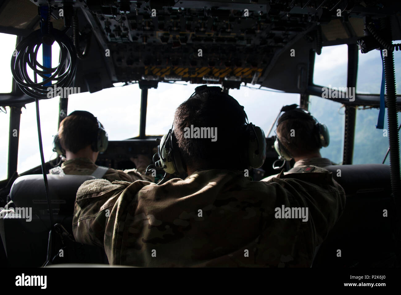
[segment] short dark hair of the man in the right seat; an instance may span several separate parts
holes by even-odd
[[[289,112],[291,111],[282,115],[286,115],[287,119],[280,122],[280,117],[278,121],[276,132],[280,143],[292,157],[302,157],[318,151],[320,143],[314,119],[309,115],[299,117],[299,113],[298,117],[290,117]],[[295,136],[291,136],[292,129]]]

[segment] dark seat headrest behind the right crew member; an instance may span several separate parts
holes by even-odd
[[[390,166],[385,164],[335,165],[324,167],[346,194],[391,192]]]

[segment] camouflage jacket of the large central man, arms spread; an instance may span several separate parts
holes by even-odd
[[[203,170],[159,186],[87,180],[77,192],[73,233],[104,247],[115,265],[309,267],[345,194],[330,173],[291,177],[255,182],[243,172]],[[308,207],[307,218],[279,214],[284,207]]]

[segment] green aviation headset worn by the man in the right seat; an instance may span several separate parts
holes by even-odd
[[[285,113],[279,118],[277,121],[277,126],[281,124],[283,121],[288,119],[304,119],[304,120],[312,120],[314,121],[314,133],[316,134],[316,139],[318,140],[319,148],[327,147],[330,143],[330,135],[328,133],[328,129],[326,125],[321,124],[313,117],[310,112],[298,107],[298,105],[286,105],[282,107],[281,111]],[[284,160],[291,160],[293,157],[290,152],[284,147],[284,145],[280,142],[278,136],[274,142],[274,148],[279,155],[279,158]]]

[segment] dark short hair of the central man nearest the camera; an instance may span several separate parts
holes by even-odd
[[[203,169],[242,170],[245,167],[245,118],[243,106],[223,92],[207,90],[184,101],[176,109],[173,124],[184,163]],[[217,141],[185,138],[184,128],[190,125],[217,127]]]

